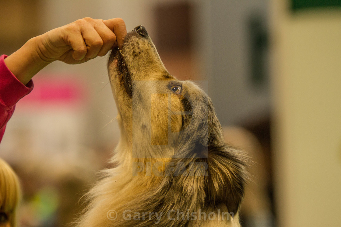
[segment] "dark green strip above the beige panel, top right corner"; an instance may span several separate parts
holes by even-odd
[[[293,10],[320,7],[341,7],[341,0],[291,0]]]

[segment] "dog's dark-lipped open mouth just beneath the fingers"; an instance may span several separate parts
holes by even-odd
[[[112,49],[108,64],[115,64],[116,77],[120,77],[120,84],[123,84],[125,92],[127,92],[128,96],[131,98],[133,96],[131,76],[127,65],[125,64],[124,56],[118,47]]]

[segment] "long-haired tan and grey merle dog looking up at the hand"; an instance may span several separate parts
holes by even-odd
[[[169,74],[143,26],[107,66],[121,135],[77,226],[240,226],[247,157],[210,98]]]

